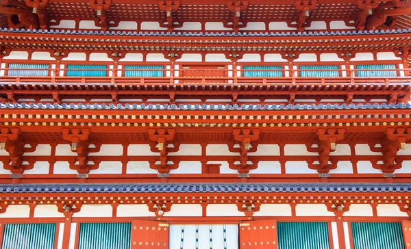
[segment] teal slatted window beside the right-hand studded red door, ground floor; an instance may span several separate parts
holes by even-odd
[[[277,222],[279,249],[328,249],[327,222]]]

